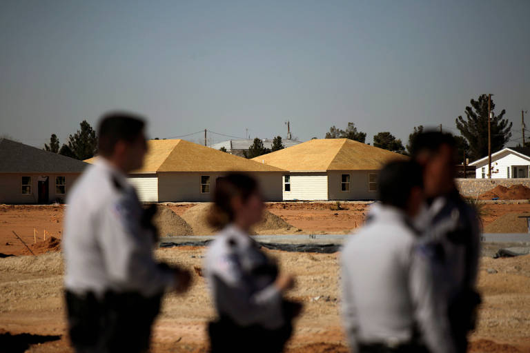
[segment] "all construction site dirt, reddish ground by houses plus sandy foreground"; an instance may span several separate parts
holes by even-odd
[[[179,215],[193,206],[167,205]],[[340,234],[364,223],[366,203],[338,206],[337,210],[337,204],[331,202],[268,203],[267,210],[293,225],[293,232],[301,229],[306,233]],[[28,352],[72,352],[66,334],[63,263],[58,252],[64,210],[62,205],[0,206],[0,253],[17,255],[0,259],[0,343],[27,339]],[[481,210],[485,225],[504,214],[525,212],[530,213],[528,203],[487,204]],[[37,256],[28,256],[29,250]],[[155,324],[153,352],[207,352],[206,323],[215,313],[204,277],[200,276],[204,250],[156,250],[159,259],[192,270],[194,283],[184,296],[168,294],[164,298]],[[347,352],[340,321],[340,254],[265,251],[279,261],[283,270],[297,277],[297,286],[288,297],[304,303],[287,351]],[[484,301],[469,351],[529,352],[530,256],[482,257],[479,289]]]

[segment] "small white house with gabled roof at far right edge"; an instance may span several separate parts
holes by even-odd
[[[488,178],[488,157],[469,163],[476,168],[477,179]],[[530,148],[509,147],[491,154],[492,179],[530,177]]]

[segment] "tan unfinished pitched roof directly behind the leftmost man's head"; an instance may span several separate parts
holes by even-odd
[[[144,166],[135,173],[284,172],[284,170],[184,140],[149,140]],[[87,159],[92,163],[94,158]]]

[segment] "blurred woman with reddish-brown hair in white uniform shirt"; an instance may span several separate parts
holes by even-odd
[[[223,227],[208,248],[206,279],[219,319],[209,324],[212,352],[281,352],[301,305],[285,301],[292,276],[250,238],[264,204],[255,179],[228,174],[217,180],[208,221]]]

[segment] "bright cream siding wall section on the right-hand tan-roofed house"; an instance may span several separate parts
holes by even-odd
[[[326,172],[288,173],[288,175],[291,175],[291,191],[285,191],[285,188],[282,188],[284,200],[328,199],[328,174]]]

